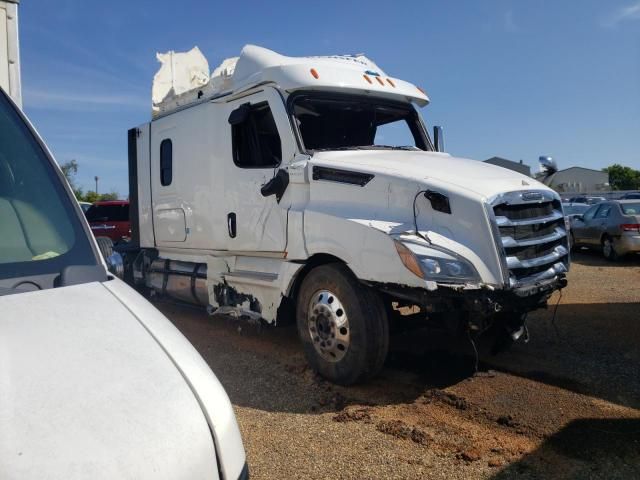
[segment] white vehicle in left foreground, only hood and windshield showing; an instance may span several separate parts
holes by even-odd
[[[47,148],[0,89],[0,478],[246,478],[224,389],[110,275]]]

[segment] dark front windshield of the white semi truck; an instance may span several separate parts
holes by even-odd
[[[292,114],[306,150],[430,150],[413,105],[350,95],[303,94]]]

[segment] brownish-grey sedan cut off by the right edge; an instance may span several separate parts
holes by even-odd
[[[612,200],[593,205],[571,225],[572,244],[601,248],[609,260],[640,252],[640,202]]]

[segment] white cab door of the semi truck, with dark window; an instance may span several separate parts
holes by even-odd
[[[227,250],[281,254],[287,245],[287,206],[275,195],[263,197],[260,188],[295,154],[284,103],[267,88],[227,107]]]

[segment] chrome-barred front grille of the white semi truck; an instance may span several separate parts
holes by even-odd
[[[512,287],[568,270],[569,246],[560,200],[551,192],[509,192],[493,202],[494,231]]]

